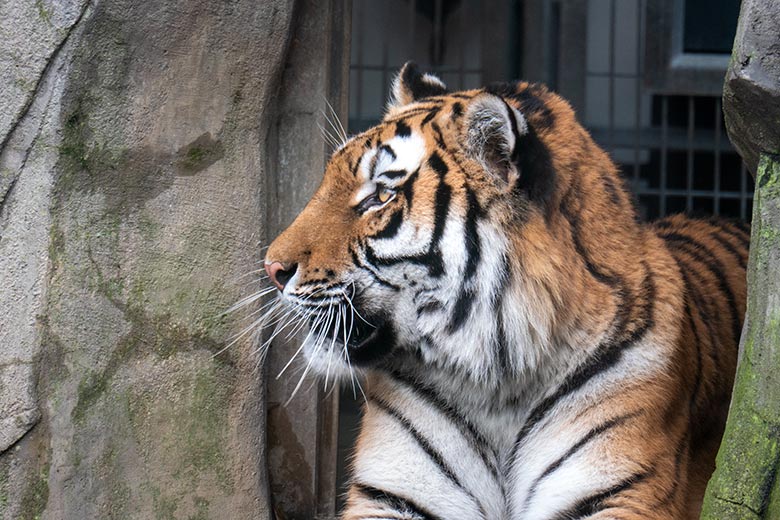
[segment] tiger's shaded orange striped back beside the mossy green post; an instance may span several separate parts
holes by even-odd
[[[715,469],[736,373],[747,304],[750,228],[741,221],[682,215],[656,221],[652,227],[677,263],[685,295],[680,349],[692,369],[682,371],[681,379],[690,388],[690,435],[679,440],[676,452],[690,447],[695,470],[690,474],[687,508],[690,518],[698,518]]]

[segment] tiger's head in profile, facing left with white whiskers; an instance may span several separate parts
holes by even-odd
[[[518,352],[553,340],[566,297],[550,229],[570,184],[553,162],[568,159],[540,134],[578,136],[554,135],[556,118],[581,129],[544,87],[449,93],[414,64],[401,69],[383,121],[333,153],[267,251],[280,297],[310,321],[303,350],[316,371],[403,361],[479,379],[533,362]]]

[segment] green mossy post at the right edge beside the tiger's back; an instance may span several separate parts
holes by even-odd
[[[780,157],[756,176],[748,308],[717,469],[702,520],[780,518]]]

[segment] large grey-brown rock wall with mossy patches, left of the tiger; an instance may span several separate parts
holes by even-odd
[[[293,2],[0,2],[0,518],[263,518],[256,359]]]

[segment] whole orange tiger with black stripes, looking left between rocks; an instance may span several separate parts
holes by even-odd
[[[391,90],[264,259],[307,370],[364,387],[340,518],[698,518],[747,225],[642,222],[541,84]]]

